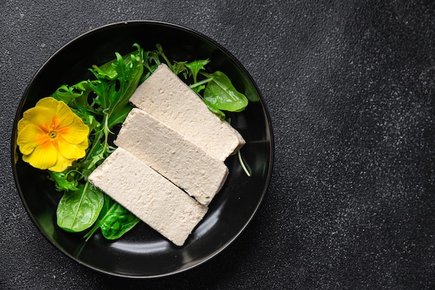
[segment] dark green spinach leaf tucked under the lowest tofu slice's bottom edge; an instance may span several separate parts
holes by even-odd
[[[139,223],[139,218],[106,195],[104,207],[101,209],[97,222],[84,238],[88,241],[92,234],[101,228],[101,234],[106,239],[118,239],[137,223]]]

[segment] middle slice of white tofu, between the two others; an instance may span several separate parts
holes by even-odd
[[[204,205],[211,202],[227,179],[228,168],[223,161],[139,108],[133,108],[127,116],[115,145],[131,152]]]

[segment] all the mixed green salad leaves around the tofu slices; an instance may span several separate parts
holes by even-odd
[[[65,102],[90,128],[85,157],[72,163],[64,172],[49,171],[49,179],[63,194],[56,211],[58,226],[68,232],[89,229],[84,236],[86,241],[97,229],[101,229],[106,239],[118,239],[139,221],[90,184],[88,177],[115,150],[111,140],[115,128],[122,125],[131,111],[131,95],[158,65],[165,62],[172,72],[183,76],[208,108],[222,119],[225,118],[223,111],[243,111],[248,104],[245,95],[234,88],[223,72],[205,72],[208,59],[171,62],[161,45],[156,45],[153,51],[144,51],[138,44],[133,47],[136,51],[130,54],[115,53],[112,61],[93,65],[90,71],[95,79],[60,86],[52,94],[58,101]],[[245,166],[243,168],[247,172]]]

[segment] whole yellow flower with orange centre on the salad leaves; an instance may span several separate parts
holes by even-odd
[[[85,156],[89,127],[64,102],[41,99],[18,122],[17,145],[31,166],[62,172]]]

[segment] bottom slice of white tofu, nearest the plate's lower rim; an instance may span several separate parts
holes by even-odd
[[[176,245],[184,244],[208,210],[122,148],[89,181]]]

